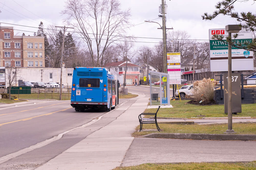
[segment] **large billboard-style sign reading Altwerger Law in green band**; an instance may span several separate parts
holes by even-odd
[[[214,34],[223,35],[223,41],[214,40]],[[234,34],[238,34],[237,38],[233,38]],[[240,30],[238,33],[232,33],[232,41],[234,44],[241,44],[247,47],[247,43],[252,41],[252,31]],[[209,29],[210,41],[210,71],[228,71],[228,44],[226,43],[228,32],[225,28]],[[253,52],[245,49],[232,47],[232,71],[253,70]]]

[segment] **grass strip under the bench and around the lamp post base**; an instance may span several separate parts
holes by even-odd
[[[179,125],[179,124],[167,124],[158,123],[161,132],[159,131],[141,131],[134,132],[133,137],[143,136],[151,133],[196,133],[196,134],[223,134],[228,129],[228,124],[206,124],[206,125]],[[142,129],[156,129],[155,124],[143,124]],[[233,123],[233,129],[236,134],[256,135],[255,123]],[[136,130],[140,130],[140,126],[136,127]]]

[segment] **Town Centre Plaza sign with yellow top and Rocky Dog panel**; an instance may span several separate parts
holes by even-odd
[[[181,84],[180,53],[167,53],[166,58],[170,84]]]

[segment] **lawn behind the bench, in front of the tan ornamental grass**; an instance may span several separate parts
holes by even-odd
[[[160,108],[157,112],[158,117],[182,117],[191,118],[197,115],[206,115],[206,117],[227,117],[224,113],[224,105],[195,105],[187,104],[189,100],[170,100],[173,108]],[[155,113],[157,109],[146,109],[144,113]],[[242,113],[234,116],[251,116],[256,117],[256,103],[242,104]],[[198,118],[197,118],[198,119]]]

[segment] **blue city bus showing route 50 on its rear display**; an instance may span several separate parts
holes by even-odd
[[[118,104],[119,82],[107,69],[75,67],[73,71],[71,106],[76,111],[103,108],[107,111]]]

